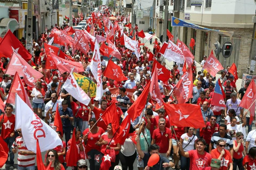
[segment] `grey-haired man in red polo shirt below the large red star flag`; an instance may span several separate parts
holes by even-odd
[[[168,158],[171,153],[171,130],[165,127],[166,122],[164,118],[159,119],[158,125],[159,128],[153,132],[151,145],[157,144],[159,146],[159,154]]]

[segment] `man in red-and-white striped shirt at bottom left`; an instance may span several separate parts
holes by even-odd
[[[34,170],[35,169],[35,153],[29,151],[22,137],[21,129],[17,129],[19,136],[15,139],[16,141],[11,146],[14,154],[18,151],[18,169],[22,170]]]

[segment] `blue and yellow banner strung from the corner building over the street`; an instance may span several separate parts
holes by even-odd
[[[223,34],[223,35],[227,35],[230,36],[230,38],[232,37],[234,32],[231,31],[220,31],[220,30],[212,30],[210,28],[205,28],[205,27],[201,27],[199,25],[196,24],[192,24],[192,23],[188,23],[186,21],[183,21],[179,18],[175,18],[175,17],[171,17],[171,26],[175,27],[175,26],[179,26],[179,27],[190,27],[190,28],[195,28],[195,29],[200,29],[200,30],[205,30],[205,31],[216,31],[219,34]]]

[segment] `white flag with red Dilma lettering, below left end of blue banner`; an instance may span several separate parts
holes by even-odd
[[[184,56],[183,56],[182,50],[176,44],[174,44],[171,40],[168,41],[168,44],[163,56],[168,61],[184,63]]]

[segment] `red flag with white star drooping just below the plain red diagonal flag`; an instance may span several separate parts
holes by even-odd
[[[129,135],[130,131],[130,122],[131,122],[131,117],[128,114],[125,119],[122,121],[119,130],[117,132],[117,138],[115,139],[116,143],[119,143],[122,145],[125,142],[125,139]]]

